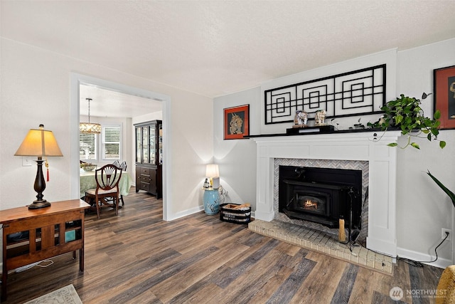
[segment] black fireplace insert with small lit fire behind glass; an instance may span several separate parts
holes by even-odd
[[[362,172],[352,169],[279,166],[279,212],[338,228],[352,219],[360,229]]]

